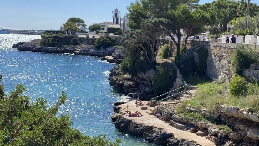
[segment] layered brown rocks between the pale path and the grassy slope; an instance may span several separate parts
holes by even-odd
[[[203,116],[214,119],[216,123],[228,125],[232,132],[219,128],[216,123],[195,122],[188,117],[181,117],[176,114],[175,108],[170,105],[156,106],[155,113],[161,113],[163,120],[180,130],[196,133],[198,136],[205,136],[215,145],[227,146],[256,146],[259,140],[259,119],[258,114],[249,113],[238,107],[221,105],[213,114],[206,113],[206,109],[196,111],[188,109],[189,112],[201,112]],[[249,111],[249,110],[248,110]]]

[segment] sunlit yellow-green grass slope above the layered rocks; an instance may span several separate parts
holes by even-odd
[[[259,113],[259,93],[258,84],[250,84],[250,94],[246,96],[225,96],[226,83],[221,81],[205,82],[197,84],[197,91],[191,100],[185,101],[178,107],[178,113],[184,113],[187,107],[197,110],[206,108],[206,112],[213,113],[223,104],[226,106],[235,106],[241,109],[248,109],[248,112]]]

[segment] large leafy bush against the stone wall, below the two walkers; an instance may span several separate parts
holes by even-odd
[[[243,44],[239,44],[231,56],[231,66],[234,73],[242,76],[244,69],[248,69],[252,63],[259,61],[258,56],[258,48],[246,47]]]

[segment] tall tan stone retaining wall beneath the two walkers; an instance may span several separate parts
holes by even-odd
[[[211,79],[220,79],[222,81],[229,82],[233,76],[231,71],[231,55],[233,50],[240,44],[230,44],[230,43],[220,43],[220,42],[207,42],[207,41],[187,41],[187,48],[194,48],[203,45],[208,49],[207,58],[207,71],[206,74],[211,77]],[[244,44],[246,46],[251,46],[259,49],[259,45],[254,44]],[[184,46],[184,41],[181,42],[181,47]],[[171,56],[176,54],[176,45],[170,41],[170,52]],[[250,67],[249,76],[255,77],[257,81],[259,80],[259,67],[258,65],[252,65]]]

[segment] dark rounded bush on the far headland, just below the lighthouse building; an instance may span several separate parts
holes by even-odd
[[[105,36],[105,37],[101,36],[98,39],[95,39],[93,43],[93,46],[97,49],[101,49],[101,47],[106,49],[108,47],[112,47],[115,45],[116,45],[115,39],[110,36]]]

